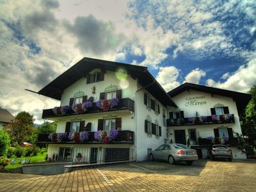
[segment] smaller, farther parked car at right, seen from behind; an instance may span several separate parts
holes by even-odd
[[[225,158],[232,161],[232,150],[227,147],[227,145],[212,145],[210,151],[211,160],[217,158]]]

